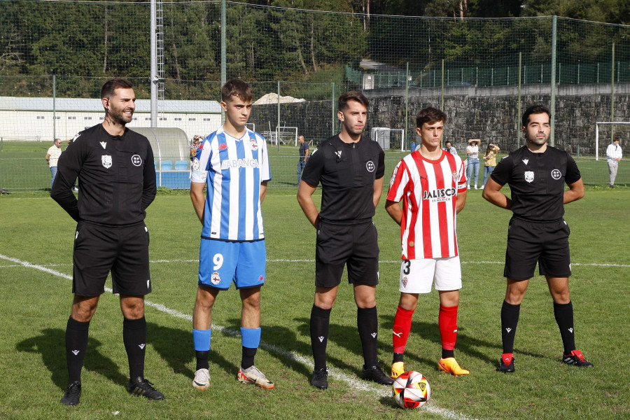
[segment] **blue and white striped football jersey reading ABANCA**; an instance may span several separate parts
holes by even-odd
[[[237,139],[221,128],[206,137],[190,168],[190,181],[207,182],[202,238],[265,239],[260,183],[270,179],[267,144],[260,134],[247,130]]]

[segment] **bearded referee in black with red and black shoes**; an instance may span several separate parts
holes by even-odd
[[[514,335],[521,302],[536,263],[545,276],[554,301],[554,315],[564,346],[567,365],[592,367],[575,349],[573,306],[568,277],[571,274],[569,228],[563,220],[564,204],[584,197],[584,183],[575,160],[565,151],[547,145],[551,125],[549,110],[533,105],[525,110],[521,130],[526,146],[503,158],[484,188],[483,197],[514,216],[507,230],[505,269],[507,291],[501,307],[503,354],[498,370],[514,372]],[[512,197],[500,189],[508,184]],[[564,190],[564,184],[568,190]]]

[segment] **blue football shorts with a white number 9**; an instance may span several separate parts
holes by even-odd
[[[228,242],[203,239],[199,248],[199,283],[228,290],[265,284],[267,251],[265,241]]]

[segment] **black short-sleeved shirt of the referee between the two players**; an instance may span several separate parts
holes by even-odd
[[[385,153],[376,141],[361,137],[348,144],[337,134],[309,156],[302,181],[310,186],[321,183],[319,217],[324,223],[353,225],[374,216],[374,180],[384,174]]]

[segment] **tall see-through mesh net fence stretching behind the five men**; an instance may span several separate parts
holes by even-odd
[[[365,136],[383,141],[392,161],[418,142],[414,116],[429,105],[447,113],[444,139],[461,155],[470,138],[505,153],[521,146],[520,116],[533,103],[554,108],[554,145],[582,159],[596,155],[596,122],[630,120],[628,26],[228,2],[222,38],[220,1],[161,4],[164,99],[153,121],[149,3],[0,2],[0,188],[45,188],[41,151],[102,121],[99,91],[111,77],[134,83],[139,106],[130,127],[178,127],[188,139],[209,134],[221,125],[222,64],[227,78],[253,87],[250,122],[270,144],[271,186],[296,182],[296,134],[312,148],[339,131],[336,100],[347,90],[370,98]],[[605,179],[605,162],[593,168],[587,183]],[[619,181],[630,183],[624,165]]]

